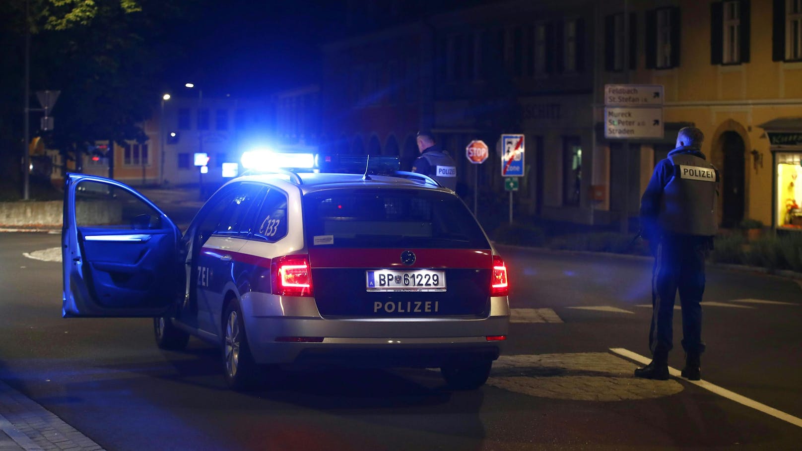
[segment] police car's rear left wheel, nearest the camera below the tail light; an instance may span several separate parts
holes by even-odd
[[[230,388],[237,391],[256,388],[259,367],[250,353],[248,339],[245,336],[245,322],[242,320],[242,312],[236,299],[225,309],[223,364],[225,382]]]

